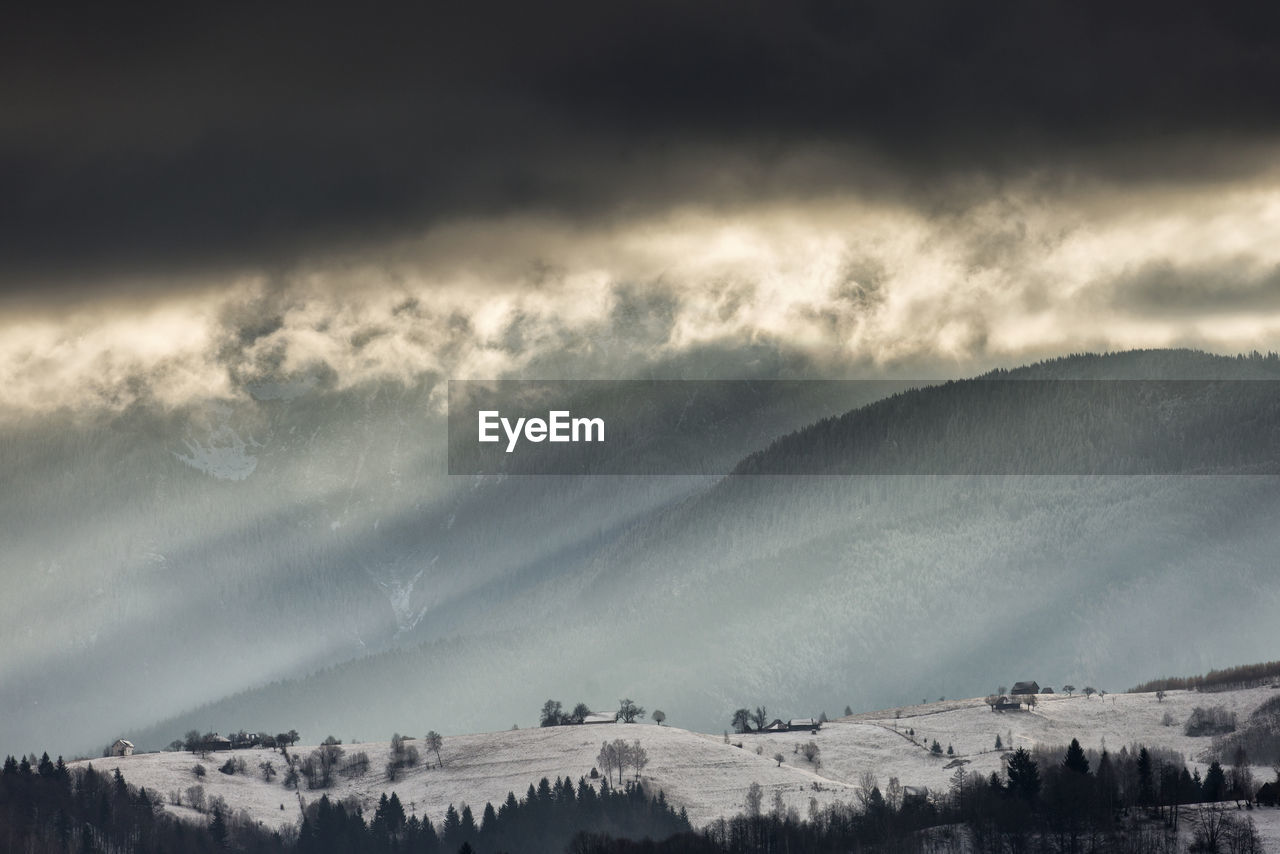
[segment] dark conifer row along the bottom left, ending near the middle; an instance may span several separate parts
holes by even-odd
[[[407,816],[396,794],[384,794],[369,818],[358,805],[321,796],[307,805],[296,837],[233,814],[200,786],[188,790],[186,805],[207,812],[207,825],[174,818],[163,798],[127,785],[119,769],[70,771],[61,758],[55,763],[45,754],[35,762],[9,757],[0,772],[0,839],[13,851],[559,854],[590,840],[663,840],[691,831],[684,810],[673,810],[660,791],[650,796],[640,786],[616,789],[608,780],[596,790],[567,777],[554,784],[544,777],[522,799],[511,793],[497,808],[485,804],[479,821],[470,807],[451,805],[438,828],[425,817]]]

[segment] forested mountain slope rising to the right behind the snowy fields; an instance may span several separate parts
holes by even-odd
[[[1010,375],[1098,379],[1108,365],[1119,379],[1263,379],[1277,370],[1275,359],[1152,352]],[[1149,672],[1265,658],[1280,645],[1280,484],[1226,472],[1272,460],[1263,440],[1274,410],[1257,393],[1267,385],[1215,398],[1207,416],[1156,401],[1169,435],[1202,429],[1202,416],[1236,430],[1236,444],[1178,446],[1166,465],[1197,476],[724,478],[557,556],[518,585],[517,576],[494,580],[448,639],[251,690],[141,736],[163,743],[188,725],[305,725],[369,737],[413,720],[475,731],[531,723],[547,697],[607,708],[623,695],[716,731],[735,708],[758,703],[781,716],[817,714],[973,694],[1024,676],[1115,689]],[[919,402],[910,412],[919,435],[982,387],[904,396]],[[838,465],[838,446],[809,439],[884,406],[801,430],[744,465],[780,448]],[[1047,417],[1048,403],[1036,406]],[[997,435],[1000,419],[1025,416],[1018,398],[975,411]],[[1147,417],[1135,406],[1116,412]],[[1243,443],[1251,435],[1257,446]],[[1053,439],[1078,455],[1070,435]],[[922,455],[950,447],[933,442]],[[895,453],[909,458],[911,447]]]

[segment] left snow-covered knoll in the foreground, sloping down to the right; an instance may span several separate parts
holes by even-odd
[[[460,809],[462,804],[468,804],[479,818],[485,802],[497,807],[508,791],[524,796],[529,785],[541,777],[554,780],[568,776],[576,781],[589,776],[598,764],[602,740],[618,737],[628,743],[640,741],[649,757],[644,780],[654,790],[663,790],[677,807],[685,807],[695,825],[741,810],[746,789],[753,781],[765,787],[768,803],[772,803],[773,793],[781,790],[787,805],[801,810],[808,810],[810,796],[818,798],[819,803],[852,798],[851,786],[815,773],[801,757],[791,755],[790,748],[785,763],[778,767],[769,758],[772,752],[758,755],[754,749],[724,744],[721,736],[667,726],[622,723],[447,736],[440,750],[442,767],[434,767],[434,754],[422,750],[420,740],[411,741],[422,752],[422,762],[402,772],[396,782],[390,782],[385,772],[390,754],[388,743],[343,744],[348,753],[369,754],[369,772],[355,780],[335,775],[334,786],[324,793],[308,791],[303,784],[301,795],[306,802],[319,799],[321,794],[337,799],[353,795],[371,809],[383,793],[394,791],[406,810],[419,816],[425,813],[436,823],[444,818],[449,804]],[[750,740],[750,736],[744,737]],[[754,748],[754,744],[746,746]],[[292,753],[306,755],[312,749],[297,745]],[[220,773],[218,767],[228,757],[242,757],[250,773]],[[279,777],[265,782],[257,773],[262,761],[273,761],[276,769],[283,768],[279,752],[264,749],[219,752],[204,759],[189,753],[148,753],[91,762],[99,769],[119,767],[131,784],[159,791],[165,798],[172,791],[184,793],[188,786],[202,785],[206,798],[221,796],[230,809],[247,810],[257,821],[296,823],[300,816],[298,794],[284,789]],[[197,780],[192,772],[197,763],[206,768],[204,780]],[[617,784],[616,772],[613,784]],[[191,814],[186,809],[178,812]]]

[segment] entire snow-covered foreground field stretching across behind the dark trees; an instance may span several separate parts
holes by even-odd
[[[1096,749],[1103,744],[1111,750],[1135,743],[1160,745],[1184,754],[1188,762],[1203,769],[1211,739],[1185,736],[1181,729],[1192,709],[1225,705],[1243,721],[1276,693],[1270,688],[1217,694],[1170,691],[1164,702],[1155,694],[1108,694],[1105,698],[1057,694],[1041,695],[1032,712],[1004,713],[992,712],[980,699],[954,700],[851,716],[827,723],[817,735],[806,731],[731,735],[731,744],[721,735],[622,723],[456,735],[444,739],[442,767],[435,767],[434,754],[429,754],[420,741],[411,741],[421,752],[422,762],[403,772],[396,782],[385,773],[388,743],[344,744],[347,752],[367,753],[370,769],[355,780],[335,776],[335,785],[324,794],[338,799],[355,796],[371,809],[384,791],[396,791],[407,809],[426,814],[433,822],[443,819],[449,804],[460,809],[470,804],[479,818],[485,802],[498,805],[508,791],[522,796],[529,785],[541,777],[577,780],[588,776],[596,766],[600,743],[622,737],[640,741],[649,755],[644,780],[654,790],[663,790],[673,804],[687,809],[695,826],[740,812],[751,782],[764,787],[765,804],[773,802],[774,791],[781,791],[785,803],[805,816],[810,799],[817,799],[819,805],[854,799],[867,771],[876,775],[881,785],[892,776],[902,785],[937,791],[946,790],[957,763],[966,771],[984,775],[1000,769],[1004,750],[995,749],[997,735],[1006,748],[1061,746],[1073,737]],[[1174,718],[1174,726],[1162,725],[1166,712]],[[908,735],[909,730],[915,731],[914,737]],[[800,745],[810,739],[820,749],[818,763],[805,761],[799,753]],[[943,750],[951,745],[955,757],[931,754],[928,745],[934,739]],[[741,748],[736,746],[739,743]],[[292,752],[306,755],[311,749],[298,745]],[[774,754],[782,754],[781,767]],[[250,773],[220,773],[218,767],[228,755],[243,757]],[[279,777],[271,782],[262,780],[257,767],[268,759],[276,769],[283,768],[278,752],[261,749],[216,753],[206,759],[188,753],[152,753],[92,762],[99,769],[119,767],[131,784],[166,798],[200,784],[206,796],[221,796],[232,809],[246,810],[257,821],[294,825],[300,795],[284,789]],[[204,781],[192,773],[197,762],[207,768]],[[1274,773],[1262,767],[1254,772],[1260,781]],[[301,799],[310,802],[321,794],[303,787]],[[178,812],[192,814],[187,809]],[[1280,810],[1262,809],[1251,814],[1268,841],[1267,850],[1280,850]]]

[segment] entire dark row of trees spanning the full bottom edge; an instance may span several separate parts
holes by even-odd
[[[603,744],[602,755],[637,749],[639,744],[627,745],[620,739]],[[773,793],[772,809],[765,810],[765,791],[753,785],[742,814],[718,821],[701,834],[690,832],[687,818],[676,813],[660,793],[650,798],[639,785],[612,787],[605,777],[596,790],[585,780],[575,786],[568,778],[554,784],[543,778],[530,785],[524,799],[508,794],[498,808],[486,804],[479,821],[468,807],[451,807],[439,828],[429,819],[406,817],[396,795],[384,795],[369,821],[358,807],[325,796],[307,807],[294,841],[264,831],[246,816],[233,816],[225,803],[206,799],[202,791],[188,790],[188,803],[210,813],[209,825],[178,822],[164,813],[159,796],[128,786],[119,771],[114,776],[92,767],[73,772],[61,759],[52,762],[45,754],[40,759],[5,761],[0,772],[0,827],[13,850],[124,854],[202,854],[228,848],[251,854],[745,854],[864,849],[997,854],[1037,848],[1074,854],[1180,851],[1180,834],[1187,828],[1196,840],[1194,850],[1256,854],[1261,842],[1247,813],[1224,810],[1212,803],[1233,796],[1233,791],[1235,796],[1247,791],[1251,778],[1240,773],[1247,767],[1247,757],[1240,755],[1236,767],[1224,769],[1213,763],[1201,780],[1172,752],[1135,746],[1116,754],[1096,753],[1073,740],[1057,752],[1019,748],[1010,754],[1004,773],[984,777],[957,768],[950,790],[929,796],[901,786],[896,778],[882,790],[868,773],[852,803],[819,808],[810,799],[808,821],[785,804],[781,790]],[[960,825],[966,827],[963,835],[956,834]],[[625,839],[663,841],[637,846],[620,841]]]

